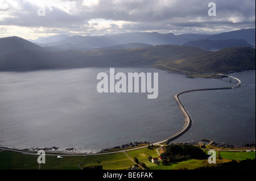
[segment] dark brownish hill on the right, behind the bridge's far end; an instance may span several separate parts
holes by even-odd
[[[165,58],[156,61],[176,69],[198,73],[228,73],[255,69],[255,49],[251,47],[233,47],[197,54],[187,58]]]

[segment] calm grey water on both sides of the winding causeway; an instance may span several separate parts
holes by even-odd
[[[184,125],[173,98],[177,92],[232,85],[227,78],[189,79],[154,68],[115,68],[115,73],[159,73],[158,99],[147,99],[147,93],[98,93],[100,72],[109,73],[109,68],[0,72],[0,146],[90,152],[159,141]],[[255,142],[255,71],[233,76],[242,81],[239,89],[180,96],[193,122],[174,142]]]

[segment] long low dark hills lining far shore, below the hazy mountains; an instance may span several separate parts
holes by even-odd
[[[180,45],[121,50],[20,50],[0,57],[0,70],[145,66],[164,64],[176,69],[224,73],[255,69],[255,49],[227,48],[217,52]]]

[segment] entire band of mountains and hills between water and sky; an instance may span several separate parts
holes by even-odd
[[[193,34],[175,36],[172,33],[160,34],[157,32],[95,37],[71,36],[65,38],[62,36],[63,40],[55,43],[52,43],[52,39],[49,37],[47,41],[51,41],[52,46],[46,47],[40,47],[20,37],[6,37],[0,39],[0,70],[147,66],[152,64],[163,64],[180,70],[204,73],[249,70],[255,69],[255,48],[252,48],[247,41],[253,37],[255,41],[255,34],[248,35],[252,31],[255,32],[255,29],[218,35],[195,35],[194,37]],[[246,32],[247,34],[244,35]],[[237,37],[242,37],[242,39],[229,39],[234,34],[240,34]],[[212,39],[221,37],[222,39],[197,40],[200,37],[205,38],[205,36],[208,38],[210,36]],[[192,37],[194,40],[191,40]],[[171,45],[170,42],[173,40],[191,41],[187,41],[183,45]],[[53,46],[53,44],[55,45]],[[204,47],[201,47],[202,44]],[[100,47],[97,47],[98,45]],[[209,48],[207,46],[213,45],[221,45],[221,50],[214,52],[205,50]]]

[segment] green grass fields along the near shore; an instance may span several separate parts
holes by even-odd
[[[156,165],[148,160],[148,156],[157,157],[156,148],[154,149],[137,149],[126,151],[132,159],[137,157],[139,162],[146,164],[150,170],[177,170],[177,169],[196,169],[202,166],[212,166],[208,163],[208,159],[187,159],[182,162]],[[242,161],[245,159],[254,159],[255,152],[234,152],[234,151],[216,151],[217,164],[230,162],[232,160]],[[219,159],[221,156],[221,159]],[[14,151],[0,151],[0,170],[38,170],[37,155],[27,155],[16,153]],[[79,167],[80,165],[80,167]],[[41,170],[80,170],[84,167],[102,165],[104,170],[127,170],[134,163],[125,155],[125,153],[113,153],[105,155],[90,155],[90,156],[64,156],[57,158],[56,156],[46,156],[46,163],[41,164]]]

